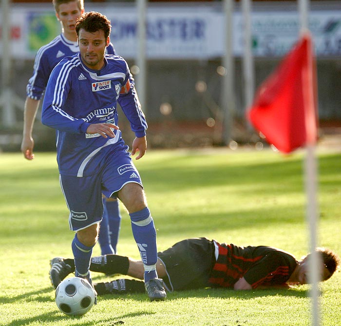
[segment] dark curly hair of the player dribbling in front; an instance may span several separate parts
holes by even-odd
[[[104,37],[108,38],[111,31],[111,24],[106,16],[95,11],[89,11],[78,18],[76,22],[77,35],[79,35],[78,33],[81,28],[90,33],[102,30],[104,32]]]

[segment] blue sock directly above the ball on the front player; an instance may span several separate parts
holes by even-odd
[[[74,240],[72,240],[72,252],[75,258],[75,276],[86,278],[91,283],[90,277],[90,260],[91,254],[93,252],[93,247],[87,247],[83,245],[77,238],[77,233],[75,234]]]

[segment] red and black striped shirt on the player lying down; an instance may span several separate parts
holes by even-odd
[[[216,245],[219,255],[209,278],[212,287],[233,288],[242,277],[252,288],[282,285],[298,264],[295,257],[276,248]]]

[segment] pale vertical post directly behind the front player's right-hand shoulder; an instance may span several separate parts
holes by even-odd
[[[136,65],[139,68],[139,73],[136,75],[136,90],[141,103],[143,112],[146,114],[146,0],[136,0],[137,9],[137,53]]]

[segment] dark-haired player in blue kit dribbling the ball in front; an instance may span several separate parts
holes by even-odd
[[[147,150],[145,116],[127,62],[105,54],[110,21],[100,13],[83,14],[76,23],[79,53],[62,59],[51,73],[42,106],[42,123],[57,130],[60,185],[70,210],[75,275],[90,280],[90,260],[102,219],[102,193],[118,197],[129,212],[144,267],[150,300],[164,300],[157,278],[156,231],[142,182],[116,111],[120,104],[135,133],[132,155]]]

